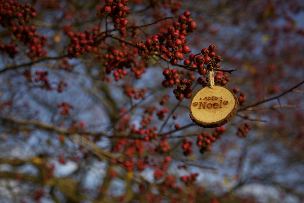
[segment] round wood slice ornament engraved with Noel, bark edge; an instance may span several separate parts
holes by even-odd
[[[193,122],[204,128],[215,128],[230,121],[237,113],[238,100],[222,86],[204,87],[194,94],[189,106]]]

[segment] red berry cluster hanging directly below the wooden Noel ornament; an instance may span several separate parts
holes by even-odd
[[[220,136],[225,132],[226,128],[224,126],[215,128],[215,131],[211,133],[202,132],[201,135],[197,137],[196,144],[201,147],[200,152],[208,152],[211,150],[211,142],[215,142]]]

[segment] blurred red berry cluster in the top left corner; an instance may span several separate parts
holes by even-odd
[[[3,27],[13,24],[13,20],[19,20],[19,24],[28,23],[30,17],[36,16],[36,8],[31,4],[22,4],[16,0],[0,1],[0,22]]]

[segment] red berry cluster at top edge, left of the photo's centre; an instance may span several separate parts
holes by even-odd
[[[131,9],[126,6],[128,0],[105,0],[105,3],[106,5],[98,10],[97,16],[101,18],[104,16],[112,17],[114,26],[120,27],[119,33],[123,33],[122,37],[124,37],[128,23],[128,20],[125,18],[131,12]]]

